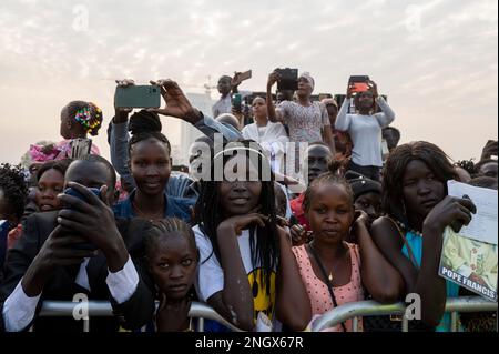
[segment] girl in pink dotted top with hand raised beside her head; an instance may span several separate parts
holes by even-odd
[[[400,275],[370,239],[367,214],[354,212],[352,188],[337,168],[332,164],[332,172],[307,188],[303,205],[313,240],[293,247],[314,316],[365,300],[364,286],[379,302],[396,301],[403,289]],[[345,241],[350,237],[357,244]],[[352,320],[329,331],[352,331]]]

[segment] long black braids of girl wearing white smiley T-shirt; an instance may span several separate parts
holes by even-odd
[[[236,142],[242,150],[234,151],[234,154],[215,155],[223,159],[223,166],[235,155],[244,154],[253,165],[258,169],[258,180],[262,183],[262,191],[259,193],[258,205],[259,213],[268,216],[268,222],[264,227],[257,225],[252,226],[249,232],[249,250],[252,254],[253,264],[261,264],[263,271],[261,272],[262,284],[266,285],[266,290],[271,291],[271,275],[272,271],[277,267],[279,259],[278,234],[276,222],[276,206],[274,196],[274,174],[271,170],[271,163],[263,153],[262,149],[251,140],[242,140]],[[224,145],[224,150],[228,146],[234,146],[233,143]],[[258,153],[255,153],[255,150]],[[217,158],[218,159],[218,158]],[[217,163],[212,158],[211,163],[211,179],[201,182],[201,192],[195,206],[196,223],[200,229],[210,239],[214,255],[220,260],[220,245],[216,237],[216,230],[220,223],[224,220],[221,212],[221,195],[220,181],[215,181],[215,166]],[[268,172],[269,179],[266,173]],[[254,232],[256,231],[256,232]],[[213,256],[211,254],[210,256]]]

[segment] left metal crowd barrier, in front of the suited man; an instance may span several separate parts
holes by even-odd
[[[82,320],[83,332],[89,332],[91,317],[113,316],[113,309],[108,301],[89,301],[86,304],[89,311],[88,312],[89,320]],[[71,301],[44,301],[39,315],[50,317],[59,317],[59,316],[70,317],[73,315],[73,311],[77,305],[81,305],[81,303]],[[242,330],[237,328],[236,326],[227,322],[215,310],[213,310],[211,306],[204,303],[193,302],[191,304],[191,309],[189,310],[189,316],[192,318],[198,318],[197,322],[198,332],[204,332],[204,320],[213,320],[231,328],[231,331],[242,332]]]

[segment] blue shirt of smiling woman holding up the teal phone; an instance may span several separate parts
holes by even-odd
[[[163,215],[164,218],[179,218],[186,223],[191,222],[191,210],[190,208],[194,205],[194,201],[191,199],[174,198],[166,195],[164,192],[164,199],[166,204],[164,206]],[[114,216],[121,219],[135,218],[135,212],[133,211],[132,201],[135,198],[135,190],[130,193],[129,198],[121,201],[113,208]]]

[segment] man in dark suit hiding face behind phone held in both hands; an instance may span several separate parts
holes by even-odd
[[[32,324],[35,331],[81,331],[82,323],[73,318],[37,316],[43,300],[72,301],[78,293],[109,300],[116,314],[93,320],[92,330],[142,327],[152,316],[154,297],[139,274],[139,262],[132,261],[131,253],[140,249],[133,241],[138,233],[122,236],[109,206],[114,169],[101,156],[86,155],[70,164],[65,183],[82,199],[63,194],[64,209],[31,215],[9,252],[0,286],[0,331],[26,331]],[[100,188],[101,195],[89,188]]]

